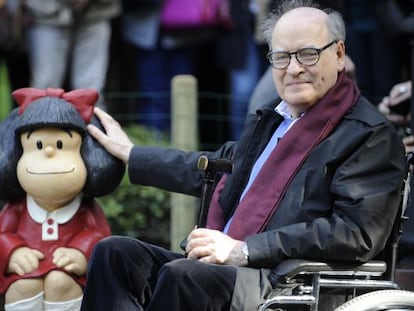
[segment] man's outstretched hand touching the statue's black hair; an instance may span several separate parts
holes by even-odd
[[[97,107],[94,112],[101,121],[106,134],[92,124],[88,125],[89,134],[95,137],[110,154],[128,164],[129,154],[134,144],[114,118]]]

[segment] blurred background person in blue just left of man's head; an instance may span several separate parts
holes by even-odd
[[[229,139],[239,139],[251,97],[268,68],[267,45],[260,25],[269,13],[271,0],[231,1],[233,27],[221,35],[218,62],[228,72],[230,101]],[[271,83],[273,85],[273,83]]]

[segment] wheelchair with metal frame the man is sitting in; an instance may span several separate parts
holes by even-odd
[[[407,155],[407,170],[394,227],[380,256],[365,263],[288,259],[272,272],[275,288],[258,311],[379,311],[414,310],[414,292],[395,281],[398,243],[406,220],[410,169],[414,155]],[[289,294],[280,294],[289,288]]]

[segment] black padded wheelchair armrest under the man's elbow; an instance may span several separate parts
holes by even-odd
[[[305,259],[288,259],[272,270],[272,278],[279,281],[289,281],[299,274],[325,275],[382,275],[387,270],[384,261],[360,262],[333,262],[313,261]]]

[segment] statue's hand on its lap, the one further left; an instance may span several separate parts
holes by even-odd
[[[10,256],[7,272],[20,276],[33,272],[39,267],[39,261],[45,256],[36,249],[20,247]]]

